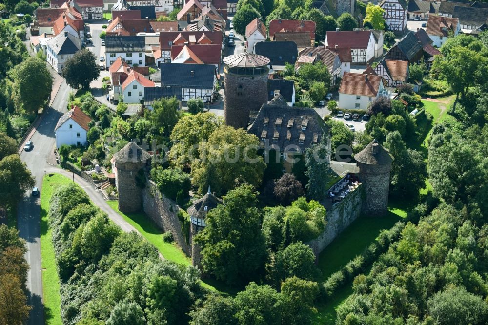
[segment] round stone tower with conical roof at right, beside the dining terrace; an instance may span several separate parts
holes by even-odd
[[[354,159],[359,167],[361,181],[366,184],[363,212],[370,215],[385,214],[388,211],[393,156],[374,139]]]

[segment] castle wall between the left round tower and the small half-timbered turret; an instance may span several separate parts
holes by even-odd
[[[147,181],[146,187],[142,190],[142,207],[144,212],[158,227],[173,234],[176,244],[181,247],[186,255],[191,254],[190,245],[184,240],[181,231],[181,223],[178,219],[178,205],[161,194],[158,186],[153,181]]]

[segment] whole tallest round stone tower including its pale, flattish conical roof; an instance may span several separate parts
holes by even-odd
[[[224,58],[224,117],[227,125],[247,128],[250,111],[268,102],[270,60],[247,52]]]

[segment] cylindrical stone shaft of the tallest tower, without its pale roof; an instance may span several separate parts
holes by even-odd
[[[268,74],[239,76],[224,73],[224,81],[225,123],[235,128],[247,128],[249,112],[259,110],[268,102]]]

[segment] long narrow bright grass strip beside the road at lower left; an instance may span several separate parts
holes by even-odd
[[[60,280],[54,258],[54,246],[51,229],[48,227],[47,214],[49,200],[53,189],[66,185],[72,181],[59,174],[48,174],[42,180],[41,192],[41,265],[42,265],[42,292],[44,295],[45,324],[62,324]]]

